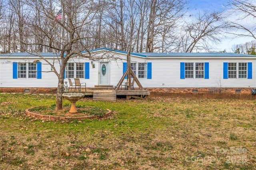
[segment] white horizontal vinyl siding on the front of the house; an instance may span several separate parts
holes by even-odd
[[[92,52],[93,53],[93,52]],[[97,56],[102,56],[106,52],[103,51],[97,52]],[[94,53],[93,53],[94,55]],[[117,85],[123,75],[123,62],[126,62],[126,54],[115,54],[113,56],[116,58],[122,58],[122,60],[110,61],[110,59],[100,60],[100,61],[110,61],[110,85]],[[49,58],[52,56],[49,56]],[[254,57],[137,57],[131,55],[131,63],[152,63],[152,79],[140,78],[139,81],[144,88],[165,88],[165,87],[256,87],[256,58]],[[13,79],[12,74],[12,65],[13,62],[17,63],[26,63],[33,62],[34,60],[40,60],[42,62],[42,79],[28,79],[28,78],[18,78]],[[51,62],[54,60],[50,59]],[[56,61],[56,60],[55,60]],[[70,59],[69,62],[74,63],[85,63],[91,61],[86,58],[75,57]],[[190,79],[180,79],[180,63],[194,63],[194,72],[195,63],[209,63],[209,79],[202,78],[190,78]],[[248,62],[252,63],[252,79],[248,78],[232,78],[232,79],[223,79],[223,63],[237,63],[237,77],[239,76],[239,65],[238,63],[247,63],[247,70],[244,75],[248,77]],[[86,87],[94,87],[98,85],[98,61],[93,61],[95,68],[92,68],[90,65],[90,79],[80,78],[81,83],[86,83]],[[204,65],[205,66],[205,65]],[[58,64],[55,64],[56,70],[59,72],[60,67]],[[27,69],[27,68],[26,68]],[[204,68],[205,69],[205,68]],[[241,70],[242,71],[242,67]],[[245,69],[245,67],[244,67]],[[28,59],[26,56],[14,56],[14,57],[0,57],[0,87],[58,87],[58,77],[54,72],[51,71],[51,66],[48,65],[39,57],[31,57]],[[65,70],[66,71],[66,70]],[[138,71],[138,69],[136,69]],[[205,71],[205,70],[204,70]],[[241,72],[242,73],[242,72]],[[138,72],[136,73],[138,75]],[[194,77],[196,73],[194,73]],[[64,82],[68,81],[67,77],[64,79]],[[74,82],[74,79],[72,79]],[[138,87],[134,83],[134,87]]]

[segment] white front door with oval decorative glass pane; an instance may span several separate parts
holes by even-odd
[[[99,85],[109,85],[109,67],[107,62],[100,62]]]

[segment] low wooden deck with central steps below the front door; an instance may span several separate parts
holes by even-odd
[[[148,98],[150,95],[149,91],[134,89],[134,90],[115,90],[113,86],[96,86],[95,88],[83,89],[81,91],[68,91],[68,93],[83,93],[85,96],[92,96],[94,100],[100,101],[114,101],[113,95],[117,96],[126,96],[126,99],[136,98],[136,99],[144,99]]]

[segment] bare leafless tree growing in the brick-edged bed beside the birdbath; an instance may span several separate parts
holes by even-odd
[[[40,14],[40,20],[34,22],[35,18],[30,17],[29,26],[30,34],[26,36],[44,37],[44,41],[34,41],[26,45],[41,45],[44,48],[52,49],[54,52],[59,52],[59,55],[54,55],[54,61],[44,59],[53,69],[58,77],[58,88],[56,93],[56,110],[62,109],[62,89],[64,85],[64,70],[68,60],[74,55],[80,57],[88,57],[83,55],[80,49],[88,51],[93,45],[91,42],[95,37],[91,37],[90,24],[93,23],[95,15],[99,9],[99,3],[94,0],[76,0],[76,1],[53,1],[41,0],[26,0],[26,5],[34,11],[34,14]],[[62,20],[56,18],[58,10],[56,4],[62,8]],[[38,11],[40,11],[38,13]],[[36,30],[36,31],[35,31]],[[79,45],[79,48],[77,48]],[[36,51],[31,51],[36,52]],[[57,70],[56,61],[60,67]]]

